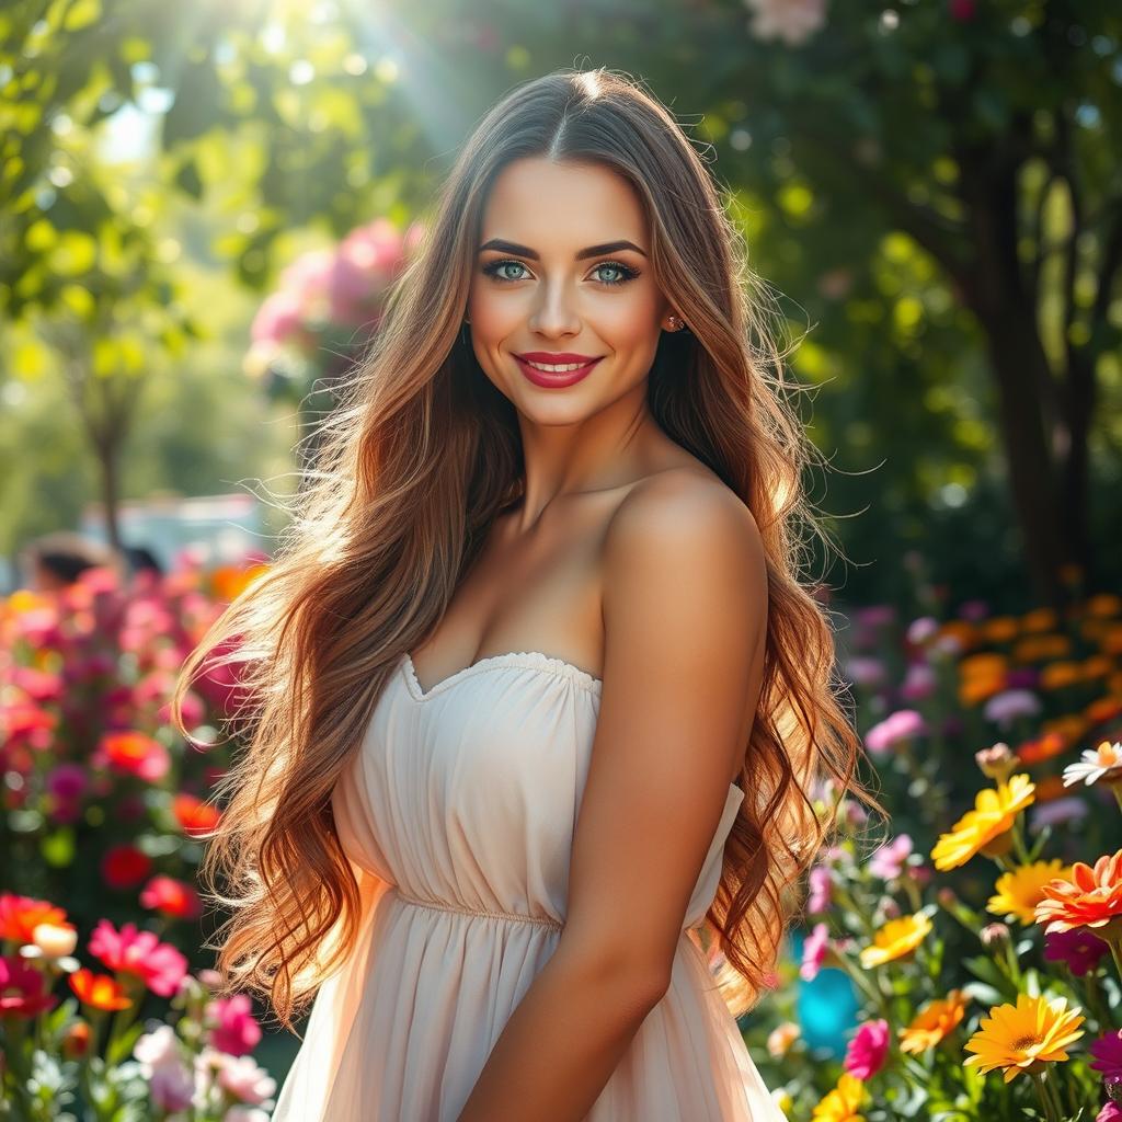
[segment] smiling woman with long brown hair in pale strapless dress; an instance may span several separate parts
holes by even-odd
[[[781,1118],[733,1012],[822,842],[808,792],[863,792],[746,274],[625,77],[528,82],[468,141],[188,664],[223,645],[248,698],[219,965],[289,1028],[318,991],[275,1119]]]

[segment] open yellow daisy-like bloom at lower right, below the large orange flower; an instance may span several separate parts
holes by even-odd
[[[965,1065],[977,1064],[983,1073],[1001,1069],[1005,1083],[1021,1072],[1039,1072],[1046,1063],[1067,1059],[1065,1049],[1083,1036],[1084,1017],[1067,1008],[1066,997],[1017,995],[1017,1005],[996,1005],[982,1027],[966,1041],[976,1052]]]

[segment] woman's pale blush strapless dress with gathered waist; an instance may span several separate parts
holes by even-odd
[[[537,652],[427,691],[401,660],[332,797],[359,938],[316,993],[274,1122],[456,1122],[558,946],[600,693]],[[712,902],[743,798],[729,788],[670,987],[587,1122],[784,1122],[687,934]]]

